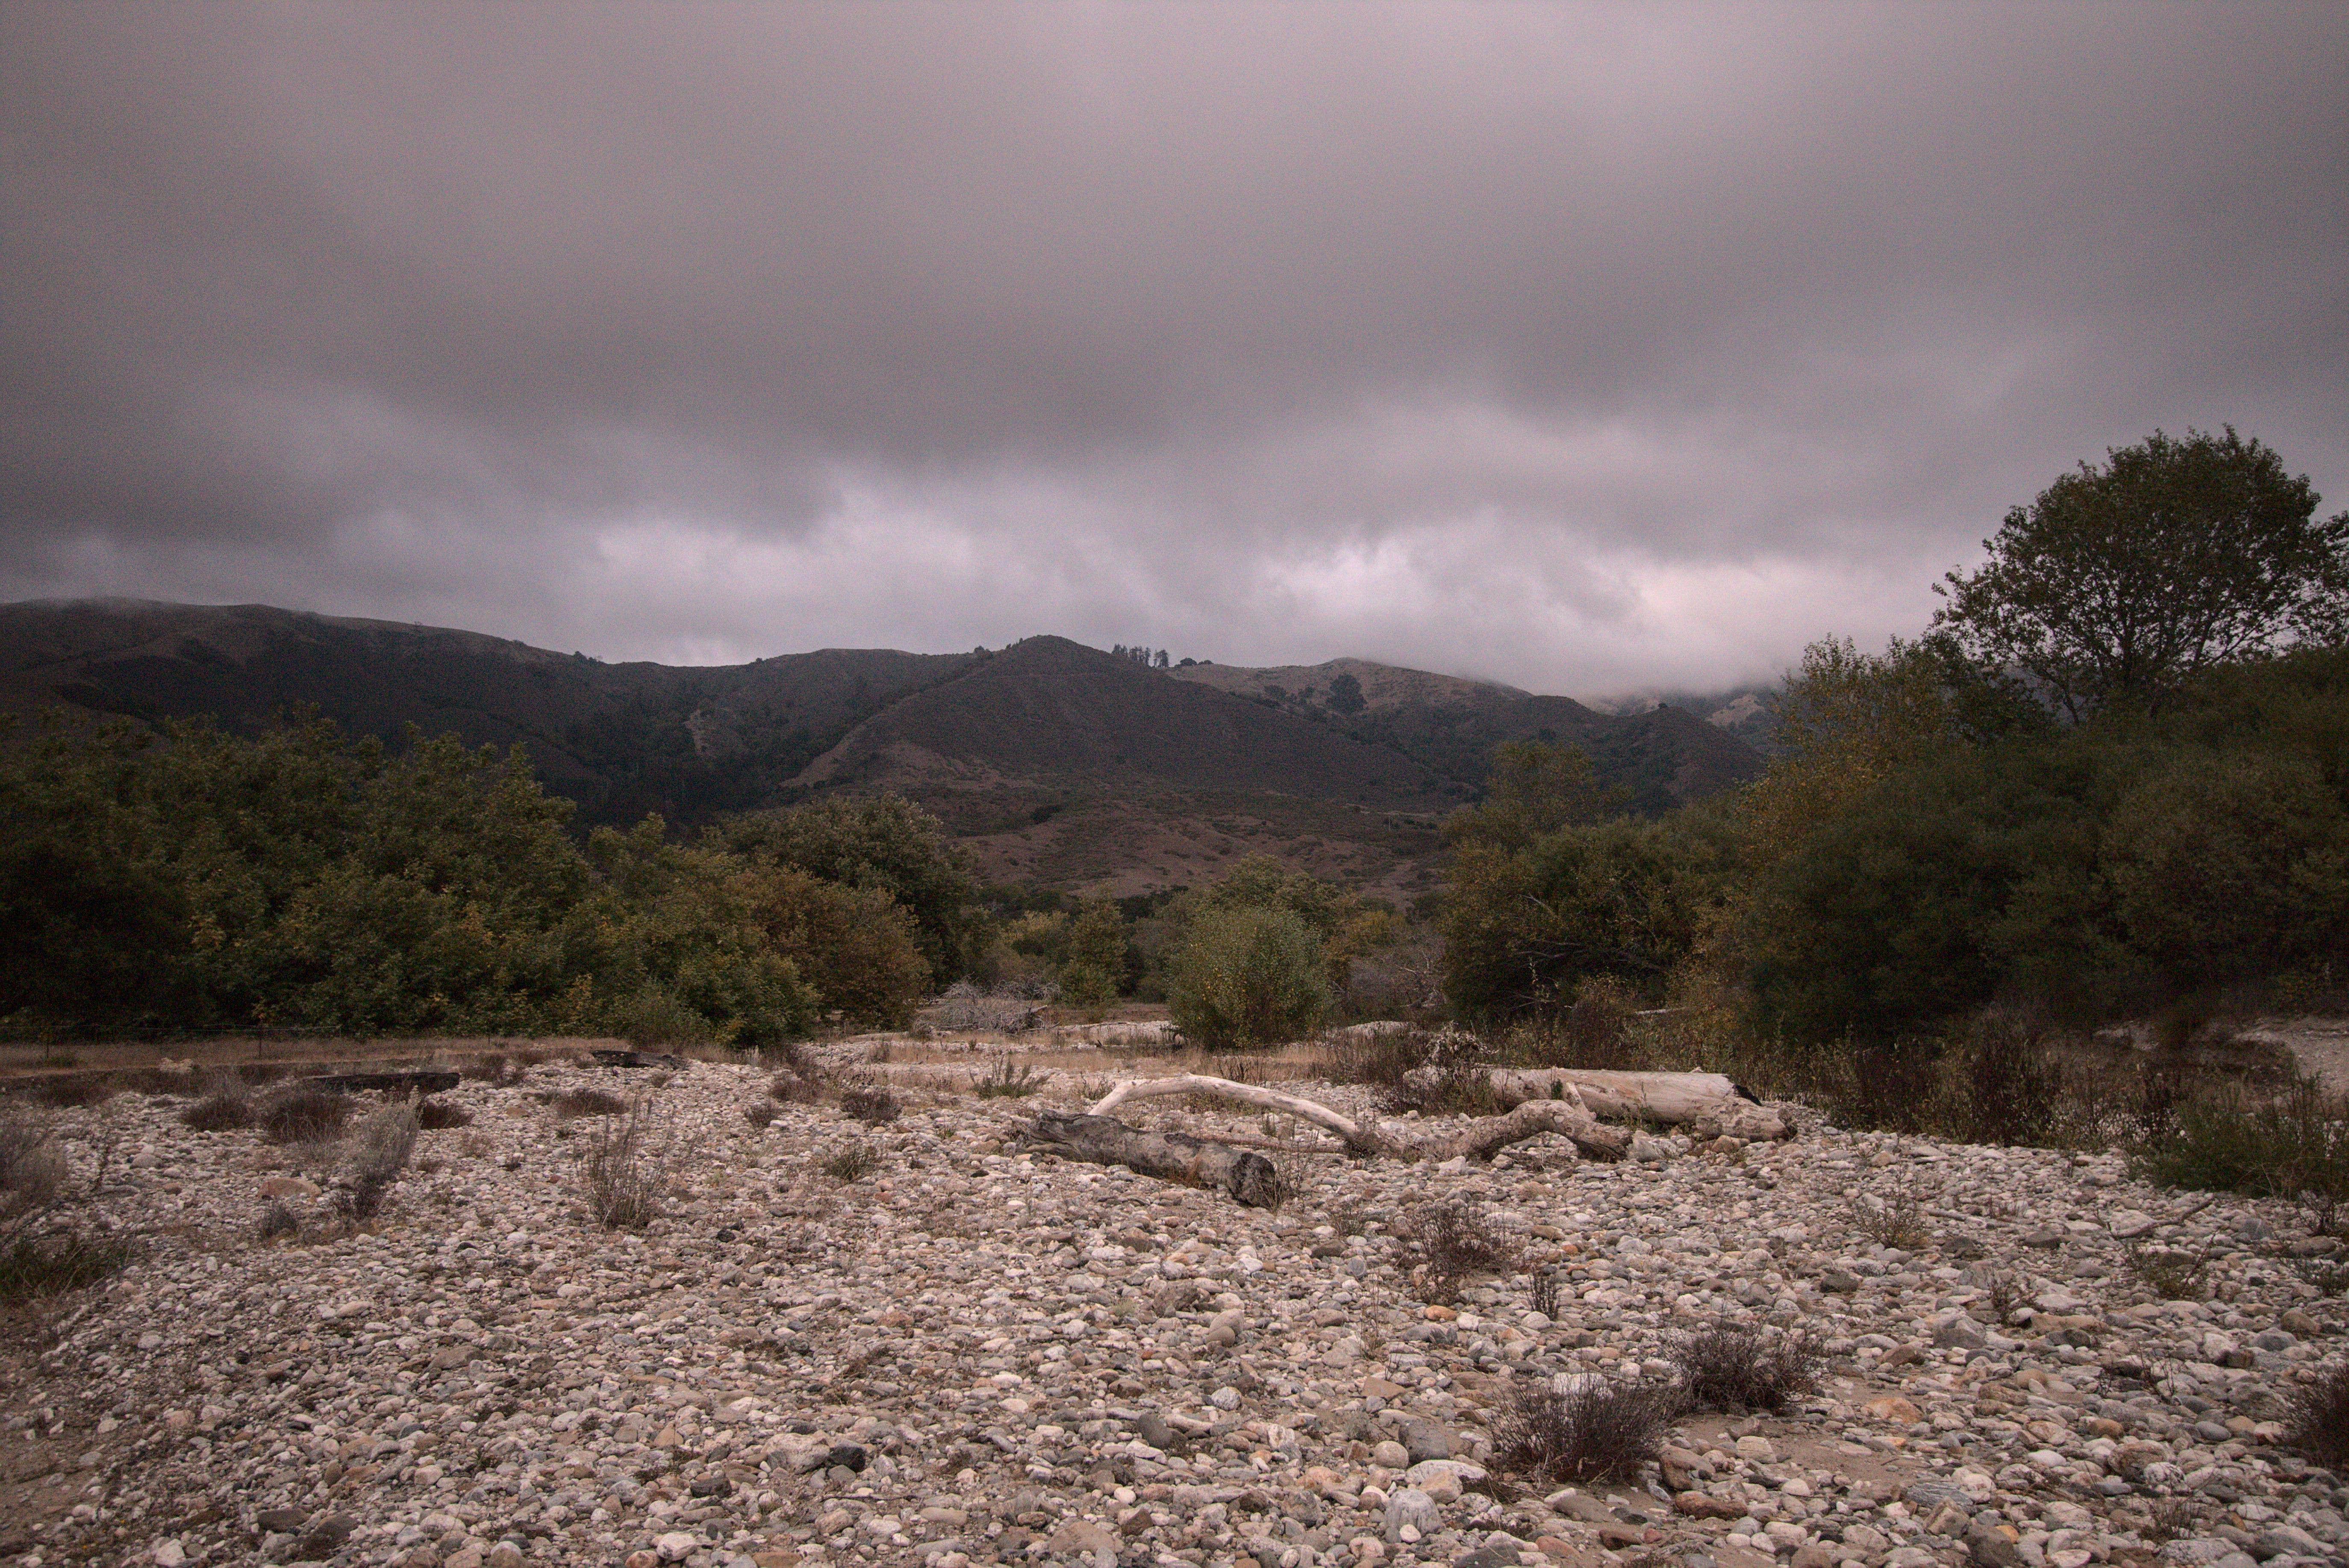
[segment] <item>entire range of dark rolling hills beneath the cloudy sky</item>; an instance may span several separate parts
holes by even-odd
[[[507,638],[150,601],[0,606],[0,711],[211,716],[251,730],[315,709],[524,744],[583,822],[681,826],[822,791],[893,789],[940,812],[984,876],[1144,892],[1273,852],[1412,894],[1435,826],[1501,739],[1586,746],[1637,810],[1748,777],[1755,753],[1691,714],[1365,660],[1172,671],[1034,636],[996,653],[827,648],[749,664],[606,664]]]

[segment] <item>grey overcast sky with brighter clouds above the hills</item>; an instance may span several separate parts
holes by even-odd
[[[0,599],[1548,692],[2349,505],[2349,7],[0,9]]]

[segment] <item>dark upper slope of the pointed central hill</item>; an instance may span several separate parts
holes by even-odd
[[[1440,810],[1442,784],[1391,746],[1174,681],[1062,636],[975,660],[857,725],[803,784],[1165,786]]]

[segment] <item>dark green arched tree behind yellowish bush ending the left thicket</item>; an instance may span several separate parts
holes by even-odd
[[[879,887],[904,904],[940,986],[963,979],[987,948],[970,857],[930,812],[902,796],[829,796],[785,812],[738,817],[719,843],[756,861],[799,866],[846,887]]]

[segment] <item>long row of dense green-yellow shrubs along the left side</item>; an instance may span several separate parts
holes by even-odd
[[[49,728],[0,761],[0,1033],[761,1045],[911,1014],[982,946],[895,798],[576,838],[521,749],[329,723]]]

